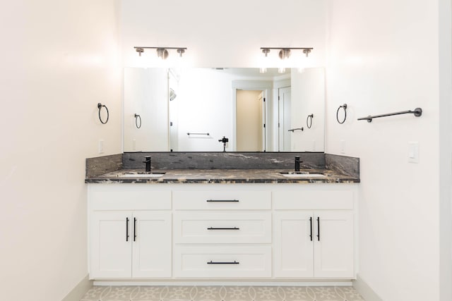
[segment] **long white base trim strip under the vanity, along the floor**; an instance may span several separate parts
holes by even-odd
[[[352,281],[94,281],[94,285],[110,286],[110,285],[160,285],[160,286],[177,286],[177,285],[232,285],[232,286],[352,286]],[[368,301],[366,299],[366,301]],[[372,300],[369,300],[372,301]]]

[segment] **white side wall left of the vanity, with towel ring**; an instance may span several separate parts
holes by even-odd
[[[100,139],[121,152],[118,13],[107,0],[0,10],[2,300],[61,300],[88,274],[85,158]]]

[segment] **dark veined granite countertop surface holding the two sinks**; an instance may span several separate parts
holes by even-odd
[[[359,178],[327,169],[303,169],[303,173],[323,174],[287,178],[281,174],[289,169],[161,169],[153,173],[165,173],[158,178],[134,176],[143,169],[121,169],[85,178],[85,183],[359,183]],[[128,176],[124,176],[128,174]]]

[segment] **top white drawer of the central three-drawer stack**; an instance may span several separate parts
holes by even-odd
[[[270,191],[174,191],[172,199],[179,210],[271,209]]]

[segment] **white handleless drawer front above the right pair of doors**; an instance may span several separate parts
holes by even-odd
[[[273,208],[281,210],[353,209],[352,190],[274,191]]]

